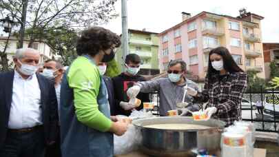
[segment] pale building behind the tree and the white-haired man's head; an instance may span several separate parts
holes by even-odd
[[[0,36],[0,49],[3,51],[7,41],[7,36]],[[8,54],[8,59],[11,62],[12,61],[12,56],[14,56],[16,50],[17,50],[17,44],[19,40],[16,37],[10,37],[9,43],[8,43],[8,48],[6,50],[6,54]],[[28,43],[30,41],[28,39],[25,39],[23,41],[23,48],[28,48]],[[47,59],[52,59],[54,58],[54,49],[52,46],[50,46],[48,43],[45,43],[44,41],[34,41],[32,44],[32,48],[39,50],[40,52],[40,62],[42,63],[43,61]]]

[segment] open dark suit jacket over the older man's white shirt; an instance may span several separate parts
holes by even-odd
[[[43,113],[43,130],[45,142],[55,141],[58,129],[57,100],[54,84],[41,74],[37,74],[41,90],[41,105]],[[0,73],[0,149],[6,139],[10,107],[12,103],[12,85],[14,72]]]

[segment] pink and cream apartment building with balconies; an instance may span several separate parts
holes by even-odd
[[[239,17],[211,12],[200,12],[192,17],[182,12],[181,23],[158,34],[161,72],[167,69],[170,60],[183,59],[187,70],[204,79],[210,50],[224,46],[242,70],[256,70],[258,76],[265,79],[260,30],[263,18],[246,11]]]

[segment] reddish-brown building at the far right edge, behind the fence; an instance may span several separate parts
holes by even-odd
[[[265,76],[269,80],[270,78],[270,63],[275,61],[279,70],[279,43],[262,43],[263,53],[265,58]]]

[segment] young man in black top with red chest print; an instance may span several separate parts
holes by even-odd
[[[135,106],[129,104],[130,98],[127,96],[127,90],[138,81],[146,81],[143,76],[138,75],[140,70],[141,58],[137,54],[128,54],[125,58],[125,72],[112,78],[114,84],[114,95],[116,101],[116,114],[130,116],[131,109]],[[149,94],[139,93],[136,97],[141,100],[141,105],[137,110],[143,109],[143,102],[149,102]]]

